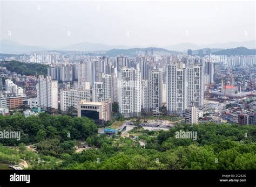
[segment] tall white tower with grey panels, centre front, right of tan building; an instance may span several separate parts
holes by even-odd
[[[138,117],[142,108],[142,87],[140,71],[134,68],[121,68],[118,79],[119,113],[124,117]]]

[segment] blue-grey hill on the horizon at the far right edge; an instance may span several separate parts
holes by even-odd
[[[247,49],[245,47],[237,47],[232,49],[224,49],[217,52],[214,52],[213,54],[216,55],[256,55],[256,49]]]

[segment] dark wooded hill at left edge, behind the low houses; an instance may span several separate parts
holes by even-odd
[[[47,75],[48,66],[39,63],[25,63],[19,61],[2,61],[0,66],[6,67],[11,72],[21,75]]]

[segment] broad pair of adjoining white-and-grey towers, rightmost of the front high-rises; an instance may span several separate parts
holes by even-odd
[[[203,107],[203,75],[202,66],[185,67],[180,62],[167,65],[166,102],[169,115],[183,114],[192,102],[194,106]]]

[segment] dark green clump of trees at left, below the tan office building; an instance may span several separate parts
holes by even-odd
[[[71,118],[70,116],[51,116],[40,113],[37,117],[25,117],[21,113],[13,116],[0,116],[0,131],[19,131],[21,140],[0,139],[0,143],[6,146],[17,146],[23,142],[25,144],[50,141],[49,139],[59,139],[62,143],[70,140],[86,139],[95,135],[98,130],[94,121],[89,118]],[[50,141],[55,142],[55,141]],[[55,142],[56,143],[56,142]],[[43,146],[39,144],[40,146]]]

